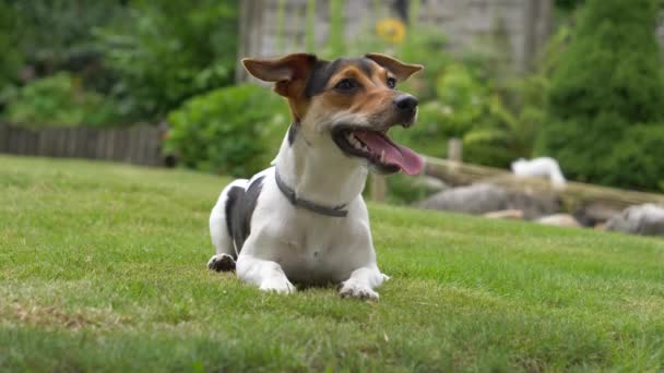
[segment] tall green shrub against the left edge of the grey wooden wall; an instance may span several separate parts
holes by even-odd
[[[238,2],[133,1],[129,20],[96,32],[127,113],[158,120],[185,99],[233,83]]]

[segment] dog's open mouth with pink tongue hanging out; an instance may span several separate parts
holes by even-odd
[[[382,173],[403,170],[407,175],[417,175],[424,168],[422,157],[390,140],[387,130],[342,125],[334,129],[332,139],[346,155],[367,159]]]

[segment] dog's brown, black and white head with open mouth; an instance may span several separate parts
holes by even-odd
[[[366,159],[381,173],[418,173],[422,158],[392,142],[388,130],[411,127],[417,99],[396,84],[423,69],[384,55],[319,60],[296,53],[277,59],[242,60],[247,71],[286,97],[294,125],[310,146],[332,142],[346,156]]]

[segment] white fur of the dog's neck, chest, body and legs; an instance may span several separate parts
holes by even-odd
[[[361,196],[367,165],[364,159],[344,155],[329,132],[334,122],[344,120],[348,118],[340,116],[319,122],[317,131],[298,131],[292,145],[284,139],[274,164],[298,197],[330,207],[347,204],[347,216],[330,217],[296,208],[278,190],[275,167],[262,171],[251,233],[237,258],[236,272],[242,281],[281,293],[296,291],[293,282],[333,282],[341,284],[342,297],[378,298],[374,289],[388,276],[376,264],[369,215]],[[355,117],[353,121],[359,120]],[[236,180],[230,185],[249,184]],[[217,255],[235,252],[224,208],[230,185],[224,189],[210,216]]]

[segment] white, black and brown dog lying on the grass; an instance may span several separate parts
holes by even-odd
[[[222,191],[210,215],[216,253],[208,267],[235,270],[266,291],[339,284],[344,298],[378,299],[375,289],[389,277],[376,263],[361,192],[369,170],[417,175],[424,167],[387,135],[415,123],[417,99],[396,83],[423,67],[379,53],[333,61],[295,53],[242,64],[274,83],[293,122],[270,168]]]

